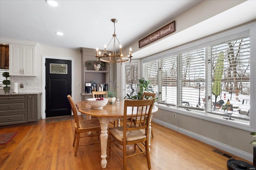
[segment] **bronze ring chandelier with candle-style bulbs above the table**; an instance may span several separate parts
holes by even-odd
[[[115,27],[115,23],[117,22],[116,19],[111,19],[111,21],[114,23],[114,34],[112,39],[110,40],[110,42],[108,43],[108,46],[110,45],[110,43],[112,42],[112,40],[114,40],[113,44],[113,52],[112,54],[109,53],[107,54],[107,45],[104,45],[104,52],[101,55],[101,52],[99,51],[98,47],[96,48],[96,58],[97,61],[98,59],[100,61],[106,62],[106,63],[124,63],[126,61],[132,61],[132,48],[130,48],[130,52],[129,55],[126,54],[126,52],[124,51],[122,45],[120,44],[120,42],[118,41],[117,37],[116,37],[116,27]],[[116,53],[116,41],[119,43],[119,53]],[[124,54],[122,53],[122,51],[124,52]]]

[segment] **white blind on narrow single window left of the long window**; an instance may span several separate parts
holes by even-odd
[[[134,96],[138,91],[138,63],[125,64],[124,69],[125,94]]]

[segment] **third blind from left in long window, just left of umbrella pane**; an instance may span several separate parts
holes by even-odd
[[[179,60],[178,106],[204,109],[205,48],[182,53]]]

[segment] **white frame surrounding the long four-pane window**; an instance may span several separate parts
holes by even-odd
[[[148,57],[145,57],[142,59],[141,67],[142,70],[145,63],[152,62],[155,60],[163,59],[168,56],[173,55],[179,55],[180,53],[184,53],[185,51],[192,51],[195,49],[208,47],[210,45],[224,42],[224,41],[230,41],[232,39],[236,39],[238,37],[244,37],[246,35],[250,35],[250,47],[256,47],[256,22],[251,22],[248,24],[244,24],[235,28],[228,29],[226,31],[222,31],[220,33],[216,33],[214,35],[210,35],[207,37],[204,37],[202,39],[198,39],[189,43],[186,43],[184,45],[180,45],[178,47],[174,47],[172,49],[168,49],[166,51],[162,51],[160,53],[156,53],[154,55],[150,55]],[[256,64],[256,49],[251,48],[250,49],[250,64],[255,65]],[[206,71],[207,72],[207,71]],[[144,72],[143,76],[144,76]],[[206,73],[207,75],[207,73]],[[256,67],[250,67],[250,86],[256,87]],[[159,86],[159,85],[158,85]],[[207,84],[206,84],[207,86]],[[250,88],[250,101],[255,102],[256,101],[256,88]],[[256,105],[253,105],[252,102],[250,102],[250,120],[249,121],[243,121],[243,120],[226,120],[223,119],[223,116],[220,115],[214,115],[209,114],[207,112],[200,113],[200,111],[197,110],[185,110],[178,107],[172,107],[172,106],[166,106],[164,104],[157,104],[159,109],[164,109],[167,111],[180,113],[183,115],[188,115],[191,117],[196,117],[198,119],[204,119],[207,121],[211,121],[214,123],[219,123],[222,125],[227,125],[230,127],[235,127],[238,129],[243,129],[246,131],[256,131],[256,112],[252,110],[256,110]]]

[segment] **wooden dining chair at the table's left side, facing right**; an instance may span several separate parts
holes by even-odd
[[[86,145],[79,145],[79,139],[84,138],[84,137],[95,137],[100,136],[100,121],[98,119],[89,119],[89,120],[79,120],[75,104],[71,98],[70,95],[67,96],[72,112],[74,113],[75,117],[75,135],[74,135],[74,141],[73,141],[73,147],[75,146],[76,143],[76,151],[75,151],[75,156],[77,155],[78,147],[81,146],[87,146],[87,145],[94,145],[94,143],[89,143]],[[92,132],[92,131],[97,131],[96,134],[90,134],[88,135],[87,132]],[[80,136],[80,133],[84,133],[85,135]]]

